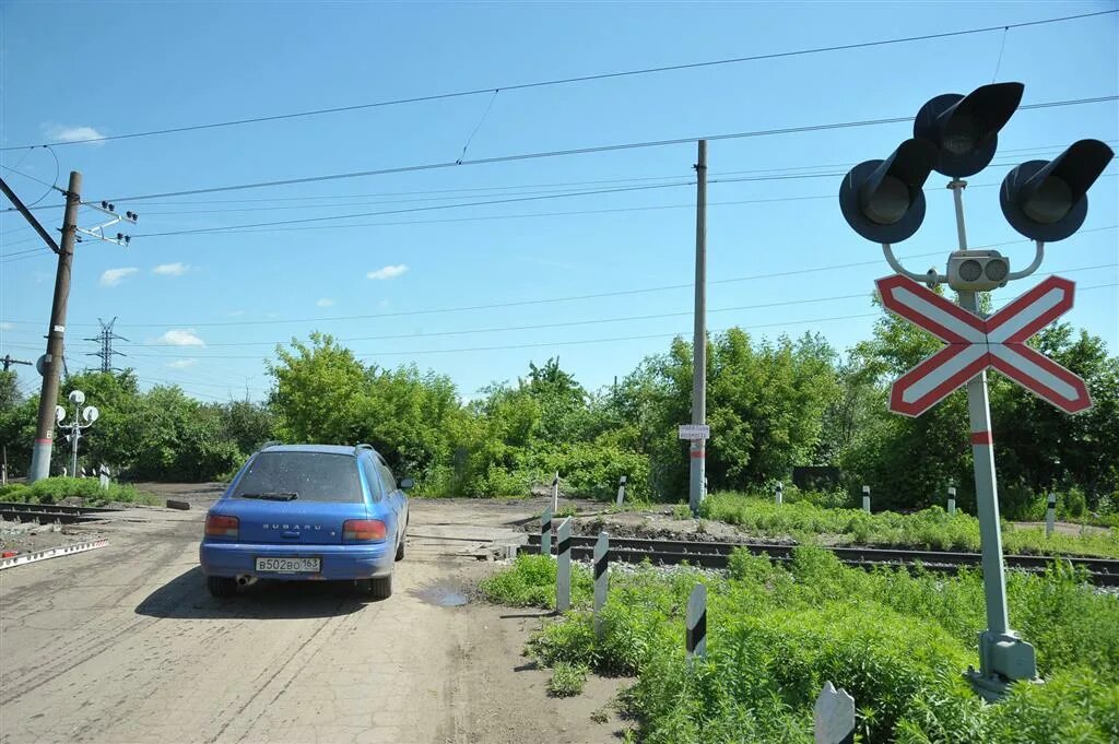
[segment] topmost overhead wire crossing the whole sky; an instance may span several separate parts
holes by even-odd
[[[774,53],[769,53],[769,54],[749,55],[749,56],[742,56],[742,57],[727,57],[727,58],[723,58],[723,59],[708,59],[708,60],[704,60],[704,62],[684,63],[684,64],[678,64],[678,65],[662,65],[662,66],[658,66],[658,67],[642,67],[642,68],[638,68],[638,69],[615,70],[615,72],[610,72],[610,73],[595,73],[595,74],[591,74],[591,75],[579,75],[579,76],[573,76],[573,77],[560,77],[560,78],[553,78],[553,79],[536,81],[536,82],[532,82],[532,83],[516,83],[516,84],[509,84],[509,85],[488,85],[488,86],[481,87],[481,88],[472,88],[472,90],[467,90],[467,91],[454,91],[454,92],[451,92],[451,93],[436,93],[436,94],[431,94],[431,95],[411,96],[411,97],[405,97],[405,98],[393,98],[393,100],[387,100],[387,101],[374,101],[374,102],[369,102],[369,103],[358,103],[358,104],[350,104],[350,105],[345,105],[345,106],[333,106],[333,107],[328,107],[328,109],[312,109],[312,110],[308,110],[308,111],[298,111],[298,112],[290,112],[290,113],[283,113],[283,114],[272,114],[272,115],[266,115],[266,116],[252,116],[252,117],[246,117],[246,119],[234,119],[234,120],[226,120],[226,121],[219,121],[219,122],[208,122],[208,123],[204,123],[204,124],[190,124],[190,125],[185,125],[185,126],[169,126],[169,128],[164,128],[164,129],[148,130],[148,131],[143,131],[143,132],[129,132],[129,133],[125,133],[125,134],[106,134],[106,135],[103,135],[103,136],[91,136],[91,138],[84,138],[84,139],[81,139],[81,140],[69,140],[69,141],[66,141],[66,142],[51,142],[49,144],[55,145],[55,147],[60,147],[60,145],[66,145],[66,144],[85,144],[85,143],[91,143],[91,142],[109,142],[111,140],[130,140],[130,139],[145,138],[145,136],[158,136],[158,135],[166,135],[166,134],[177,134],[177,133],[181,133],[181,132],[195,132],[195,131],[200,131],[200,130],[213,130],[213,129],[220,129],[220,128],[226,128],[226,126],[242,126],[242,125],[245,125],[245,124],[260,124],[260,123],[265,123],[265,122],[284,121],[284,120],[290,120],[290,119],[303,119],[303,117],[308,117],[308,116],[320,116],[320,115],[325,115],[325,114],[337,114],[337,113],[345,113],[345,112],[351,112],[351,111],[363,111],[363,110],[367,110],[367,109],[380,109],[380,107],[386,107],[386,106],[398,106],[398,105],[413,104],[413,103],[425,103],[425,102],[432,102],[432,101],[445,101],[445,100],[449,100],[449,98],[461,98],[461,97],[466,97],[466,96],[474,96],[474,95],[482,95],[482,94],[491,94],[492,95],[492,94],[498,93],[498,92],[506,92],[507,93],[507,92],[510,92],[510,91],[525,91],[525,90],[529,90],[529,88],[547,87],[547,86],[553,86],[553,85],[571,85],[571,84],[575,84],[575,83],[590,83],[590,82],[594,82],[594,81],[614,79],[614,78],[620,78],[620,77],[636,77],[636,76],[639,76],[639,75],[650,75],[650,74],[657,74],[657,73],[678,72],[678,70],[685,70],[685,69],[699,69],[699,68],[704,68],[704,67],[717,67],[717,66],[723,66],[723,65],[736,65],[736,64],[749,63],[749,62],[762,62],[762,60],[768,60],[768,59],[782,59],[782,58],[788,58],[788,57],[799,57],[799,56],[816,55],[816,54],[827,54],[827,53],[833,53],[833,51],[852,51],[852,50],[855,50],[855,49],[867,49],[867,48],[872,48],[872,47],[881,47],[881,46],[887,46],[887,45],[911,44],[911,43],[914,43],[914,41],[931,41],[931,40],[937,40],[937,39],[947,39],[947,38],[953,38],[953,37],[960,37],[960,36],[970,36],[970,35],[976,35],[976,34],[988,34],[988,32],[991,32],[991,31],[1003,31],[1005,34],[1007,30],[1013,29],[1013,28],[1026,28],[1026,27],[1029,27],[1029,26],[1045,26],[1045,25],[1049,25],[1049,23],[1060,23],[1060,22],[1072,21],[1072,20],[1081,20],[1081,19],[1085,19],[1085,18],[1094,18],[1094,17],[1098,17],[1098,16],[1107,16],[1107,15],[1112,15],[1112,13],[1116,13],[1116,12],[1119,12],[1119,11],[1117,11],[1117,10],[1100,10],[1100,11],[1090,12],[1090,13],[1079,13],[1079,15],[1075,15],[1075,16],[1062,16],[1060,18],[1045,18],[1045,19],[1040,19],[1040,20],[1034,20],[1034,21],[1023,21],[1023,22],[1019,22],[1019,23],[1003,23],[1003,25],[999,25],[999,26],[986,26],[986,27],[982,27],[982,28],[969,28],[969,29],[961,29],[961,30],[956,30],[956,31],[942,31],[940,34],[922,34],[920,36],[906,36],[906,37],[899,37],[899,38],[892,38],[892,39],[877,39],[877,40],[873,40],[873,41],[858,41],[858,43],[854,43],[854,44],[840,44],[840,45],[835,45],[835,46],[814,47],[814,48],[808,48],[808,49],[791,49],[791,50],[787,50],[787,51],[774,51]],[[23,145],[3,147],[3,148],[0,148],[0,151],[20,150],[20,149],[26,149],[26,148],[30,148],[30,147],[44,147],[44,144],[46,144],[46,143],[39,143],[39,144],[35,144],[35,145],[23,144]]]

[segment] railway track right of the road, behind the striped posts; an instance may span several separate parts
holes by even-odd
[[[594,553],[596,537],[572,537],[572,558],[590,559]],[[555,541],[552,543],[555,550]],[[687,562],[703,568],[726,568],[727,557],[735,548],[745,548],[754,555],[764,555],[772,561],[792,561],[793,545],[761,543],[696,543],[685,540],[653,540],[628,537],[610,538],[610,561],[640,563],[649,558],[653,563],[676,565]],[[918,564],[929,571],[956,573],[961,566],[978,566],[982,556],[978,553],[953,553],[947,550],[900,550],[894,548],[830,547],[827,548],[848,566],[873,568],[874,566],[905,566]],[[523,553],[539,553],[540,536],[528,535],[528,545]],[[1056,556],[1007,555],[1004,562],[1009,568],[1031,573],[1042,573]],[[1092,582],[1101,586],[1119,586],[1119,561],[1110,558],[1068,558],[1074,566],[1087,568]]]

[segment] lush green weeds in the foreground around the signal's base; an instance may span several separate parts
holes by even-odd
[[[555,573],[546,556],[520,556],[480,588],[492,602],[549,608]],[[590,575],[575,566],[573,577],[573,610],[546,621],[528,653],[553,669],[636,676],[621,703],[648,744],[811,742],[825,680],[855,697],[864,742],[1119,741],[1119,597],[1068,564],[1008,577],[1012,623],[1035,646],[1045,684],[1017,684],[998,705],[961,675],[978,666],[986,625],[976,571],[865,572],[802,546],[788,567],[736,550],[726,575],[612,572],[602,640]],[[696,582],[708,590],[707,657],[689,665],[684,612]]]

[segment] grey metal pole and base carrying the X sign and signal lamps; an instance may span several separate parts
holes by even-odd
[[[956,232],[960,251],[968,249],[963,226],[963,188],[967,181],[953,178],[948,183],[956,204]],[[959,304],[979,316],[974,291],[959,291]],[[977,687],[991,697],[1002,696],[1005,685],[996,681],[998,674],[1010,679],[1034,679],[1037,663],[1034,648],[1010,630],[1006,609],[1006,574],[1003,567],[1003,533],[998,518],[998,482],[995,477],[995,444],[990,432],[990,404],[987,399],[987,371],[968,383],[968,417],[971,432],[971,461],[976,480],[976,515],[982,553],[984,596],[987,602],[987,630],[979,633],[979,674],[971,675]],[[1009,672],[1009,674],[1008,674]]]

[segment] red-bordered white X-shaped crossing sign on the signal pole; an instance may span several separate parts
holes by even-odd
[[[904,276],[875,283],[887,310],[948,345],[894,383],[891,411],[920,416],[987,367],[1066,413],[1091,407],[1083,379],[1026,346],[1029,337],[1072,308],[1071,281],[1050,276],[986,319]]]

